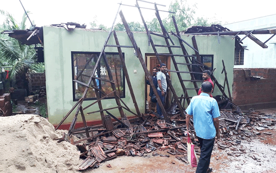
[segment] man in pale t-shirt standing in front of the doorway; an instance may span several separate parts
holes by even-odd
[[[167,81],[166,81],[166,75],[165,75],[166,68],[167,68],[166,64],[164,64],[164,63],[160,64],[160,72],[156,76],[157,83],[158,83],[157,93],[161,99],[163,106],[164,106],[164,101],[165,101],[165,93],[167,90]],[[156,109],[157,109],[158,115],[160,115],[161,117],[164,117],[162,115],[162,111],[161,111],[159,104],[157,104]]]

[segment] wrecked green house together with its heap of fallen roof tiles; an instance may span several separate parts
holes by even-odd
[[[251,137],[260,134],[254,126],[262,130],[275,124],[275,120],[264,119],[257,112],[241,112],[234,104],[236,97],[232,98],[235,54],[244,50],[242,40],[249,37],[265,48],[267,41],[263,43],[252,34],[274,34],[275,30],[230,31],[212,25],[179,32],[172,17],[175,32],[168,33],[154,4],[162,33],[148,30],[138,2],[136,7],[146,32],[132,32],[120,7],[116,17],[120,15],[125,32],[113,30],[116,17],[109,32],[86,29],[76,23],[43,26],[32,31],[4,31],[26,44],[43,45],[49,122],[55,125],[55,130],[69,129],[57,142],[66,140],[80,149],[78,155],[83,162],[78,170],[98,168],[98,163],[117,155],[143,156],[156,150],[181,155],[176,158],[188,163],[187,138],[183,136],[184,110],[197,95],[205,69],[211,71],[212,95],[221,108],[219,131],[223,137],[216,140],[216,148],[229,148],[231,152],[227,155],[238,157],[246,153],[237,146],[241,140],[250,142]],[[164,106],[160,104],[150,73],[161,63],[168,68],[165,75],[169,90]],[[150,88],[147,80],[154,88],[164,117],[153,111],[145,114]],[[71,134],[77,133],[85,133],[87,138],[74,141]],[[79,144],[83,141],[88,143]],[[196,137],[193,141],[198,142]],[[199,148],[196,152],[199,155]],[[258,159],[255,155],[250,157]]]

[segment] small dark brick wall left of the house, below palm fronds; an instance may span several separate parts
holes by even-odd
[[[41,87],[46,86],[45,73],[30,73],[29,74],[29,91],[39,90]]]

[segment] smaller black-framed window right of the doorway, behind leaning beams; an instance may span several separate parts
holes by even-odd
[[[210,70],[212,72],[214,65],[214,55],[200,55],[201,62],[205,65],[205,69]],[[197,63],[195,59],[192,59],[192,63]],[[197,65],[192,65],[193,72],[202,72],[200,67]],[[202,80],[202,74],[194,74],[196,80]]]

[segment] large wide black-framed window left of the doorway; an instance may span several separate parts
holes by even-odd
[[[87,84],[90,76],[93,73],[99,54],[100,52],[71,52],[73,80],[79,80]],[[113,81],[116,83],[115,86],[116,90],[118,91],[117,93],[119,93],[121,98],[124,98],[125,81],[119,54],[106,52],[106,58],[113,76]],[[109,80],[108,72],[106,70],[103,58],[101,58],[101,60],[99,61],[95,76]],[[91,85],[93,85],[93,82],[91,82]],[[88,88],[84,100],[96,99],[95,89],[91,85]],[[96,85],[96,87],[100,89],[104,94],[112,92],[110,82],[96,79]],[[77,101],[82,97],[85,88],[86,86],[77,82],[73,82],[73,101]],[[100,97],[104,96],[101,93],[100,95]],[[110,97],[106,97],[106,99],[110,98],[114,98],[114,95],[112,94],[110,95]]]

